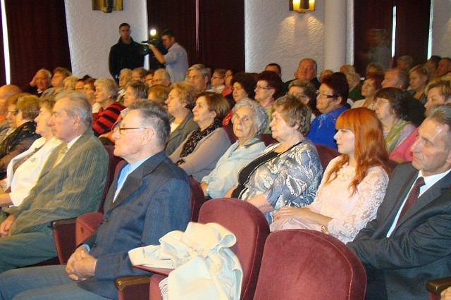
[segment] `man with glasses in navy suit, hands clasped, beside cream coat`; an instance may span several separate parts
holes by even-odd
[[[1,274],[0,299],[116,299],[116,277],[149,274],[132,268],[128,251],[185,230],[190,215],[187,175],[164,152],[169,130],[160,104],[132,104],[113,135],[114,154],[127,163],[109,190],[97,232],[70,256],[66,270],[56,265]]]

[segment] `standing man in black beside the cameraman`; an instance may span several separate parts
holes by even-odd
[[[130,37],[132,30],[130,25],[122,23],[119,25],[118,44],[110,49],[108,59],[109,71],[116,82],[119,80],[119,73],[123,68],[133,70],[144,65],[144,56],[140,54],[140,44]]]

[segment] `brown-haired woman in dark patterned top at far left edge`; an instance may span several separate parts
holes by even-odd
[[[11,98],[10,98],[11,99]],[[35,133],[34,119],[39,113],[39,98],[35,95],[8,99],[6,120],[14,130],[0,144],[0,176],[6,175],[6,167],[11,159],[30,148],[39,137]]]

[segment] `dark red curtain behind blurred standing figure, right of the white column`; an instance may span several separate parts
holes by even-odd
[[[391,41],[393,0],[354,0],[354,65],[362,75],[367,62],[362,60],[360,54],[368,49],[366,35],[370,29],[386,30]]]

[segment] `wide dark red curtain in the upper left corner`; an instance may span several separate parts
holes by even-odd
[[[30,82],[40,68],[70,70],[63,0],[6,0],[11,83]]]

